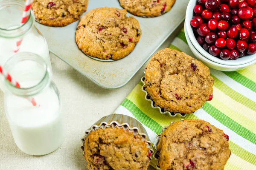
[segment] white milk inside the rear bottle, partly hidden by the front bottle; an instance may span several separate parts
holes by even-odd
[[[10,28],[11,29],[11,28]],[[16,49],[16,40],[15,39],[5,39],[0,37],[0,65],[4,65],[6,61],[12,57],[14,50]],[[35,34],[35,29],[31,28],[28,33],[23,37],[23,41],[20,45],[19,52],[32,52],[43,57],[47,62],[47,66],[52,72],[51,61],[49,57],[49,49],[46,40],[40,34]],[[3,83],[3,78],[0,81],[0,89],[4,92],[5,86]]]

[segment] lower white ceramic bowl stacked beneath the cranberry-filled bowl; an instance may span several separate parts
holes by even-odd
[[[220,70],[220,71],[238,71],[238,70],[242,70],[242,69],[246,68],[249,65],[256,63],[256,59],[251,62],[248,62],[246,64],[242,64],[242,65],[223,65],[223,64],[219,64],[217,62],[213,62],[213,61],[207,59],[206,57],[204,57],[202,54],[200,54],[196,50],[196,48],[193,46],[193,44],[188,36],[188,32],[186,29],[186,23],[185,23],[184,30],[185,30],[186,40],[188,42],[189,48],[191,49],[192,53],[195,55],[195,57],[197,59],[201,60],[205,65],[207,65],[210,68],[213,68],[215,70]]]

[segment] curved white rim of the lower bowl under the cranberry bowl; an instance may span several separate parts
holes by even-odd
[[[247,67],[249,65],[252,65],[252,64],[256,63],[256,59],[254,59],[251,62],[247,62],[245,64],[242,64],[242,65],[223,65],[223,64],[219,64],[217,62],[213,62],[212,60],[207,59],[206,57],[204,57],[199,51],[197,51],[195,46],[192,44],[191,40],[188,37],[188,32],[187,32],[187,29],[186,29],[186,23],[185,23],[185,26],[184,26],[184,32],[185,32],[185,37],[186,37],[186,40],[188,42],[189,48],[193,48],[193,51],[195,51],[198,54],[198,56],[196,56],[196,57],[198,57],[198,59],[202,60],[203,62],[207,62],[211,65],[215,65],[215,66],[218,66],[218,67],[221,67],[221,68],[234,68],[234,69]]]

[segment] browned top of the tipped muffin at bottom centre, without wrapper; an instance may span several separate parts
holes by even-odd
[[[84,142],[89,170],[147,170],[150,155],[145,141],[123,128],[92,131]]]

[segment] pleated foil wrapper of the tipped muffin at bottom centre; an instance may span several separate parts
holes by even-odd
[[[111,114],[108,116],[104,116],[101,119],[99,119],[96,123],[94,123],[94,125],[92,125],[88,130],[86,130],[84,137],[81,139],[83,143],[81,149],[83,150],[83,152],[84,142],[89,133],[91,133],[92,131],[96,131],[100,128],[105,129],[107,127],[123,128],[124,130],[128,130],[129,132],[133,132],[134,136],[138,135],[140,138],[142,138],[142,141],[144,141],[145,144],[147,144],[147,147],[149,148],[151,155],[153,155],[153,148],[151,146],[152,143],[150,142],[148,133],[143,127],[143,125],[136,119],[122,114]],[[150,156],[150,161],[151,160],[152,157]]]

